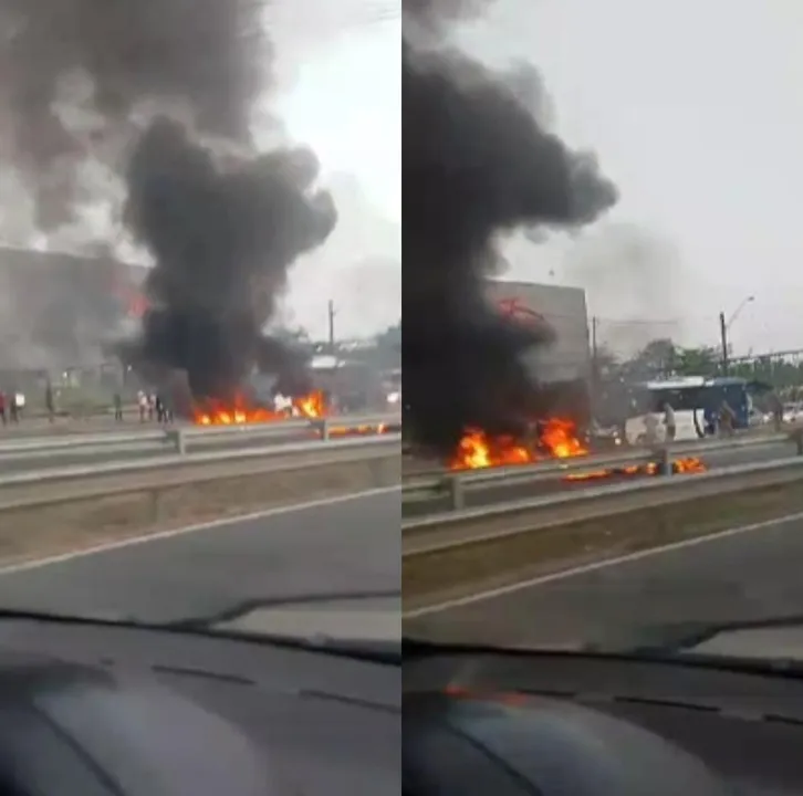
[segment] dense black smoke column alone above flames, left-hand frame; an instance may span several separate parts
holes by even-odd
[[[255,364],[285,391],[309,388],[262,327],[290,263],[334,229],[330,195],[313,192],[317,169],[311,151],[284,149],[222,170],[165,118],[139,139],[126,220],[156,258],[143,354],[186,370],[196,398],[233,397]]]

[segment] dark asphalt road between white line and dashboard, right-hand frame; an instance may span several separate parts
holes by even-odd
[[[575,646],[648,626],[803,615],[803,516],[593,568],[410,619],[430,638]]]

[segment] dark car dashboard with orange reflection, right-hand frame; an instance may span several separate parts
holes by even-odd
[[[803,794],[803,680],[626,656],[405,648],[408,796]]]

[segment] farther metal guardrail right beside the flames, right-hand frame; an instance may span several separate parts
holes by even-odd
[[[707,453],[790,444],[792,442],[797,444],[797,454],[803,455],[803,436],[773,434],[768,437],[717,440],[712,442],[680,442],[674,446],[661,446],[649,451],[640,450],[638,452],[611,455],[572,457],[557,461],[538,462],[535,464],[448,471],[435,478],[411,479],[404,484],[403,496],[406,500],[448,496],[450,509],[458,511],[466,505],[467,491],[479,492],[494,486],[536,484],[570,475],[582,479],[584,475],[593,475],[601,470],[643,467],[656,461],[660,463],[660,474],[669,476],[674,474],[671,462],[677,458],[705,457]],[[722,472],[723,470],[720,469],[717,472]],[[695,478],[700,478],[703,474],[695,474]],[[676,481],[676,479],[672,480]],[[582,493],[572,492],[570,496],[564,495],[563,499],[575,500],[578,494],[588,494],[588,490],[583,490]]]

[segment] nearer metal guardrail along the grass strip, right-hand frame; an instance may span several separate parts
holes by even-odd
[[[768,462],[737,464],[700,473],[692,479],[649,479],[632,483],[608,484],[571,494],[562,493],[528,500],[497,503],[424,517],[405,520],[403,534],[418,540],[424,532],[448,532],[450,538],[421,535],[419,544],[405,547],[404,556],[452,549],[487,540],[522,533],[517,519],[532,515],[538,525],[560,525],[577,519],[615,516],[634,509],[697,500],[710,495],[781,485],[803,480],[803,457],[788,457]],[[493,521],[498,521],[493,524]],[[488,525],[492,525],[488,530]],[[455,532],[466,531],[465,534]],[[440,534],[436,534],[440,536]],[[427,540],[431,538],[431,543]]]

